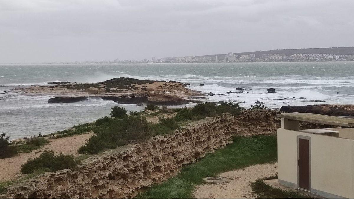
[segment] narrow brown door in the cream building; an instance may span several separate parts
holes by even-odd
[[[298,144],[298,186],[310,190],[310,140],[299,138]]]

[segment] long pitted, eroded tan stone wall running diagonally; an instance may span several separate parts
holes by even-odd
[[[231,143],[234,135],[275,133],[280,124],[276,113],[244,111],[237,118],[225,113],[195,121],[183,131],[94,155],[75,170],[46,172],[10,185],[0,198],[131,198]]]

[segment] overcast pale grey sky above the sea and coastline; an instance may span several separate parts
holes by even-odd
[[[0,63],[354,46],[353,0],[0,0]]]

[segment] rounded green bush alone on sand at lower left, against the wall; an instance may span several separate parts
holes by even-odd
[[[31,174],[39,169],[47,169],[48,171],[57,171],[61,169],[71,169],[79,164],[80,160],[75,160],[74,155],[64,155],[60,153],[54,155],[54,151],[44,151],[38,158],[28,159],[21,165],[21,173]]]

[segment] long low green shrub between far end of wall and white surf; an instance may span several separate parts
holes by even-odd
[[[231,113],[236,116],[244,107],[240,107],[239,103],[224,102],[217,105],[212,102],[200,103],[193,108],[182,108],[176,115],[177,121],[183,120],[199,120],[206,117],[213,117],[222,113]]]

